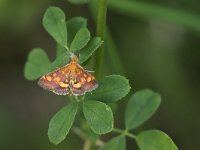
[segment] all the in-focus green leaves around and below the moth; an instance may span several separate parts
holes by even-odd
[[[74,0],[73,2],[85,1]],[[57,7],[47,9],[43,25],[57,42],[57,56],[51,63],[42,49],[33,49],[29,53],[24,71],[28,80],[37,79],[47,72],[66,65],[69,63],[70,53],[77,53],[79,63],[83,64],[103,43],[100,37],[90,38],[90,31],[84,18],[75,17],[65,20],[64,12]],[[85,122],[94,132],[92,134],[102,135],[109,132],[120,134],[100,150],[125,150],[125,136],[136,140],[141,150],[177,149],[173,141],[161,131],[143,131],[138,135],[129,132],[142,125],[158,109],[161,97],[151,90],[145,89],[131,95],[125,113],[126,129],[114,128],[113,112],[108,103],[115,104],[129,92],[128,79],[120,75],[109,75],[99,80],[99,87],[94,92],[82,97],[71,97],[69,104],[58,111],[50,121],[48,129],[50,142],[59,144],[66,138],[73,126],[77,110],[80,109],[84,114]]]

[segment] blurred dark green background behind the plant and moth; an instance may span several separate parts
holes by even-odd
[[[159,8],[138,7],[135,15],[121,10],[116,5],[119,0],[111,1],[107,24],[132,92],[151,88],[162,95],[158,112],[136,133],[160,129],[172,137],[180,150],[200,150],[200,1],[129,0]],[[42,27],[42,17],[49,6],[61,7],[67,18],[87,18],[89,29],[95,31],[87,5],[72,5],[67,0],[0,0],[1,150],[82,149],[83,142],[72,133],[58,146],[49,143],[49,120],[67,100],[23,77],[32,48],[41,47],[51,60],[55,58],[55,42]],[[165,14],[162,8],[169,11]],[[152,10],[157,12],[151,14]],[[177,18],[183,21],[177,22]],[[106,50],[106,63],[110,64],[108,53]],[[111,65],[105,66],[105,70],[107,74],[116,72]],[[115,114],[117,127],[124,126],[126,101],[120,103]],[[135,142],[128,140],[128,149],[134,147]]]

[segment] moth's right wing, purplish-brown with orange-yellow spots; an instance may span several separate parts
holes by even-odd
[[[85,92],[90,92],[97,87],[98,83],[95,77],[77,64],[76,83],[73,85],[71,92],[74,95],[84,95]]]

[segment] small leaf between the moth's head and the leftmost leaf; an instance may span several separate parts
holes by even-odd
[[[51,64],[51,71],[56,70],[60,67],[65,66],[69,63],[70,53],[66,51],[65,53],[60,54]]]

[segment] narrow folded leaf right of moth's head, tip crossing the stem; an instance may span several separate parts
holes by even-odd
[[[100,37],[95,37],[80,51],[79,53],[79,64],[87,61],[92,54],[102,45],[103,41]]]

